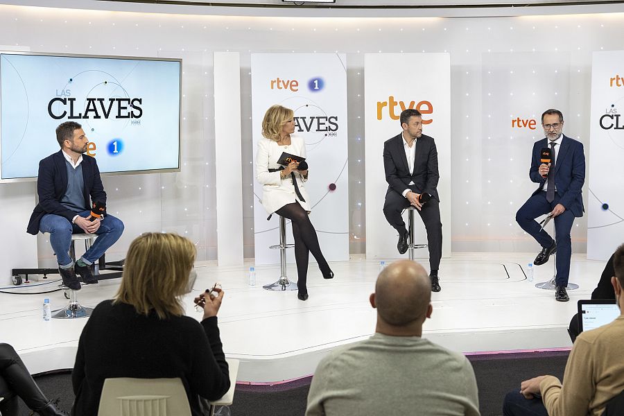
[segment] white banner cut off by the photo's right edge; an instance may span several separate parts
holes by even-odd
[[[624,51],[594,52],[591,70],[591,153],[585,210],[587,258],[607,260],[624,241]],[[588,209],[589,208],[589,209]]]

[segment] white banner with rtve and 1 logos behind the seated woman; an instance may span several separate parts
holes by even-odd
[[[277,64],[279,62],[279,64]],[[274,104],[295,112],[295,135],[306,142],[311,198],[310,219],[327,261],[349,259],[349,188],[347,169],[347,69],[345,55],[252,54],[254,161],[262,119]],[[255,170],[254,170],[255,176]],[[279,217],[261,205],[262,185],[254,177],[256,264],[279,263]],[[288,222],[289,223],[289,222]],[[287,239],[292,242],[291,226]],[[288,254],[288,259],[294,259]]]

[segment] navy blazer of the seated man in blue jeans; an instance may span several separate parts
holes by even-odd
[[[59,150],[39,162],[39,173],[37,175],[37,195],[39,203],[33,210],[31,219],[28,221],[28,234],[37,235],[39,223],[45,214],[55,214],[67,218],[70,222],[76,212],[61,205],[65,192],[67,192],[67,159],[63,151]],[[94,157],[83,154],[83,180],[85,189],[85,207],[91,207],[89,196],[93,201],[106,203],[106,193],[100,178],[100,170]]]

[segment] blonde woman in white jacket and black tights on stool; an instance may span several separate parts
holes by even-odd
[[[258,142],[256,179],[262,184],[261,203],[267,213],[275,212],[292,222],[299,288],[297,297],[300,300],[307,300],[306,278],[309,253],[312,253],[316,259],[325,279],[331,279],[333,272],[323,257],[316,230],[308,216],[311,205],[304,185],[308,180],[308,170],[298,170],[297,162],[291,162],[281,170],[279,170],[281,166],[277,164],[283,152],[306,157],[304,139],[293,135],[295,132],[294,116],[293,110],[281,105],[272,105],[264,114],[262,121],[264,138]]]

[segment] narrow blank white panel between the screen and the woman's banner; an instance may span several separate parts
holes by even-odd
[[[214,146],[217,260],[243,264],[243,175],[241,157],[241,63],[239,53],[214,53]],[[234,164],[232,163],[234,162]]]

